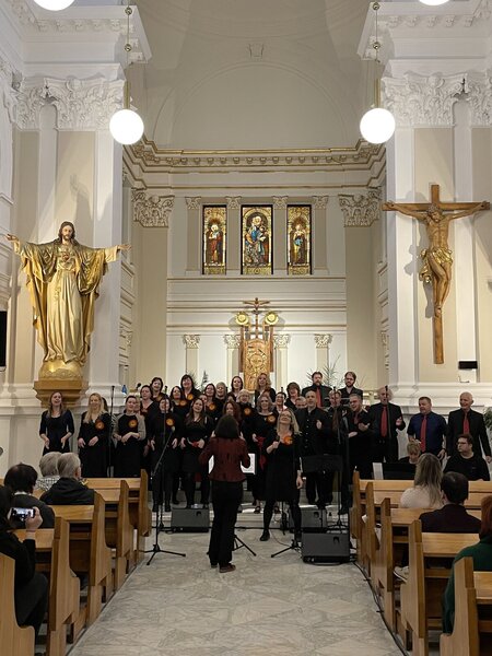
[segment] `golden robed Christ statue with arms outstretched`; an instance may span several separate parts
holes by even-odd
[[[37,340],[44,350],[40,378],[80,378],[94,327],[94,303],[107,263],[129,245],[90,248],[75,239],[73,223],[65,221],[58,238],[48,244],[21,242],[7,235],[21,256],[34,308]]]

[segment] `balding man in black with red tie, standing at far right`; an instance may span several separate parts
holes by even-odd
[[[459,410],[449,412],[447,420],[446,450],[448,456],[458,452],[458,435],[469,433],[473,437],[473,453],[477,456],[484,455],[488,462],[492,461],[489,436],[487,434],[483,414],[471,409],[473,397],[469,391],[459,396]]]

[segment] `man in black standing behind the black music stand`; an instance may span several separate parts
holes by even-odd
[[[295,417],[301,433],[301,459],[306,456],[320,456],[328,453],[328,415],[324,410],[317,408],[314,390],[311,389],[306,393],[306,408],[297,410]],[[316,503],[318,507],[325,507],[328,491],[324,473],[307,471],[305,476],[307,502],[312,505]],[[318,492],[317,501],[316,490]]]

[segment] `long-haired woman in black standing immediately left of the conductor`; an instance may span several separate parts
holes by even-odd
[[[201,399],[195,399],[191,401],[191,408],[185,418],[180,441],[187,508],[190,508],[195,503],[195,477],[197,473],[201,476],[200,503],[203,507],[209,505],[209,472],[207,467],[199,465],[198,457],[207,445],[211,433],[212,422],[207,417],[204,403]]]

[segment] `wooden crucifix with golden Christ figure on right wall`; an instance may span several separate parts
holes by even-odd
[[[443,344],[443,305],[449,294],[453,267],[453,251],[449,249],[449,222],[461,216],[469,216],[480,210],[489,210],[490,203],[482,202],[442,202],[440,186],[431,185],[431,202],[393,202],[383,203],[385,212],[396,211],[413,216],[425,223],[429,246],[420,257],[423,260],[419,277],[424,283],[432,283],[434,303],[434,362],[444,363]]]

